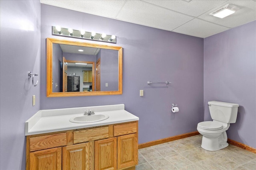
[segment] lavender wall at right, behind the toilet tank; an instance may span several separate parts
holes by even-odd
[[[237,103],[228,138],[256,148],[256,21],[204,39],[204,120],[207,102]]]

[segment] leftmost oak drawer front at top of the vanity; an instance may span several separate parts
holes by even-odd
[[[30,138],[30,152],[65,145],[67,145],[66,132]]]

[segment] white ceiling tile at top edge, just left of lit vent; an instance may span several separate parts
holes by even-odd
[[[212,9],[225,2],[224,0],[192,0],[185,2],[184,0],[143,0],[150,4],[162,6],[170,10],[181,12],[190,16],[199,16],[204,12]]]

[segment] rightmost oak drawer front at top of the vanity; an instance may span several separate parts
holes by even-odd
[[[114,125],[114,136],[127,135],[137,132],[137,123],[126,123],[121,125]]]

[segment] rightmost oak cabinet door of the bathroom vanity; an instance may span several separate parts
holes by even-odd
[[[117,168],[126,168],[138,164],[137,133],[117,137]]]

